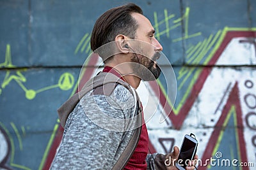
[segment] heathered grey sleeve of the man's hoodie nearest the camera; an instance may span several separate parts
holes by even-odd
[[[131,96],[125,89],[114,90],[113,96],[86,95],[68,116],[60,147],[51,169],[111,169],[124,148],[124,119],[134,108],[124,106]],[[111,94],[112,95],[112,94]],[[124,109],[127,108],[127,109]],[[121,122],[113,125],[108,116]],[[102,118],[103,117],[103,118]],[[110,131],[108,128],[120,128]],[[127,141],[128,142],[128,141]],[[121,147],[121,148],[122,148]]]

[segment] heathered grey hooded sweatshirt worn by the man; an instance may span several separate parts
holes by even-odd
[[[58,110],[64,132],[51,169],[122,169],[140,138],[138,103],[136,91],[114,74],[88,81]],[[159,169],[164,158],[148,154],[148,169]]]

